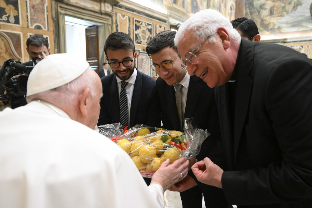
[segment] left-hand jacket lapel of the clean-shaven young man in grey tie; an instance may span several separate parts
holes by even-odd
[[[167,94],[167,101],[168,101],[168,113],[170,115],[173,129],[181,131],[181,125],[179,124],[179,117],[178,117],[178,110],[177,104],[175,100],[175,91],[174,86],[169,86],[166,84],[166,94]]]

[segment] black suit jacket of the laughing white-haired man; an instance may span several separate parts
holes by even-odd
[[[285,46],[243,39],[235,67],[234,123],[230,83],[216,87],[231,170],[222,175],[227,200],[238,207],[311,207],[311,61]]]

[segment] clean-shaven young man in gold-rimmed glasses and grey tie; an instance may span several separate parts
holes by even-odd
[[[201,157],[203,152],[205,154],[214,152],[215,156],[212,156],[216,158],[214,162],[224,167],[225,158],[222,151],[214,89],[209,88],[200,78],[188,75],[187,71],[181,67],[182,60],[174,45],[175,34],[175,31],[161,31],[146,47],[147,54],[153,59],[151,68],[159,75],[156,88],[162,112],[162,128],[183,131],[184,118],[194,117],[192,125],[208,129],[212,133],[202,144],[198,159],[203,159]],[[195,158],[192,158],[192,161],[194,163]],[[220,164],[222,162],[223,164]],[[192,175],[191,172],[189,175]],[[194,180],[193,182],[195,183]],[[200,183],[180,193],[183,208],[201,208],[202,194],[206,206],[227,207],[222,189]]]

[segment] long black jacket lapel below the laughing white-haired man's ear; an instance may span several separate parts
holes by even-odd
[[[253,81],[249,74],[253,66],[254,47],[250,41],[242,40],[240,51],[239,60],[236,61],[238,71],[234,122],[234,159],[236,159],[239,141],[246,122],[253,86]]]

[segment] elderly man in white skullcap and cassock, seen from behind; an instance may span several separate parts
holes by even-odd
[[[28,104],[0,112],[0,207],[164,207],[188,160],[163,162],[148,187],[129,155],[93,130],[101,97],[86,61],[54,54],[34,67]]]

